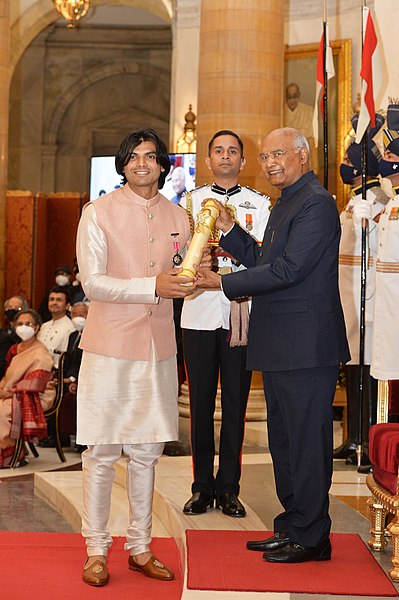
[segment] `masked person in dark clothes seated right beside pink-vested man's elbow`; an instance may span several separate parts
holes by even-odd
[[[61,436],[76,436],[76,392],[83,351],[79,348],[80,338],[86,323],[88,306],[86,302],[76,302],[72,306],[71,317],[75,327],[69,335],[68,348],[64,362],[64,397],[59,413]],[[83,450],[85,446],[76,446]]]

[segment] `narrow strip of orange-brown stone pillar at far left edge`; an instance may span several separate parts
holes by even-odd
[[[4,301],[5,213],[8,161],[8,104],[10,83],[9,0],[0,0],[0,307]],[[1,308],[0,308],[1,310]]]

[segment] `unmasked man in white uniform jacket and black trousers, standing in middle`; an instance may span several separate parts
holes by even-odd
[[[256,240],[262,241],[270,213],[267,196],[238,183],[245,165],[243,144],[229,130],[217,132],[208,147],[206,164],[214,183],[187,193],[181,205],[187,210],[192,229],[202,202],[217,198],[225,203],[234,219]],[[231,273],[240,267],[218,246],[214,231],[215,269]],[[184,506],[186,514],[200,514],[216,506],[231,517],[244,517],[238,499],[241,475],[241,448],[245,411],[251,385],[246,370],[248,302],[230,302],[220,290],[199,291],[184,300],[181,326],[184,357],[190,390],[191,448],[194,482],[192,497]],[[215,398],[220,375],[222,424],[219,468],[214,477]]]

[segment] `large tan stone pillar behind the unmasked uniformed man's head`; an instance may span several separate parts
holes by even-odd
[[[232,129],[245,146],[241,183],[271,191],[256,157],[265,134],[282,124],[284,6],[281,0],[202,0],[197,185],[209,181],[209,139]]]

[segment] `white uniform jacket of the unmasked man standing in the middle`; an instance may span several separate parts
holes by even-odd
[[[263,234],[270,214],[270,199],[260,192],[241,187],[239,184],[224,190],[217,184],[204,185],[188,192],[181,200],[190,217],[192,226],[201,203],[206,198],[216,198],[224,202],[234,212],[234,218],[256,240],[262,242]],[[218,234],[217,234],[218,235]],[[218,239],[218,238],[217,238]],[[223,251],[222,251],[223,252]],[[237,266],[225,254],[217,258],[219,269],[236,271],[243,266]],[[229,329],[230,300],[221,290],[199,290],[184,299],[181,316],[181,326],[184,329],[214,331],[219,327]]]

